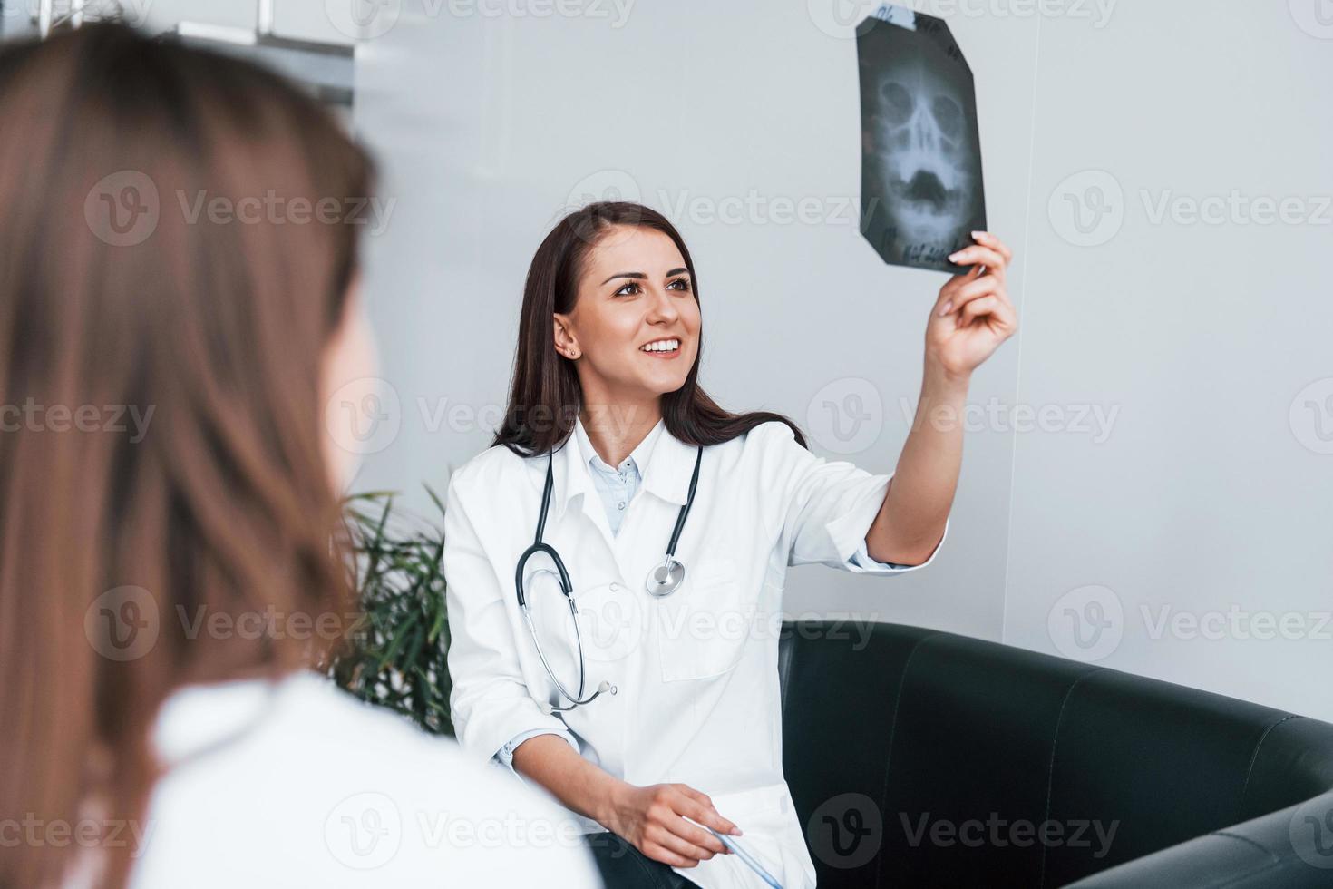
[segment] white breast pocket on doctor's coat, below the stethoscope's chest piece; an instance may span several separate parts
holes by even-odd
[[[732,558],[686,565],[680,589],[651,605],[657,606],[664,681],[720,676],[744,657],[754,601],[736,577]]]

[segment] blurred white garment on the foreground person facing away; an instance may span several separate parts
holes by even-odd
[[[155,741],[135,889],[601,885],[545,790],[315,673],[177,690]]]

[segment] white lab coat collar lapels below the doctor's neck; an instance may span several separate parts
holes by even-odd
[[[666,421],[659,420],[657,425],[644,439],[656,437],[647,457],[648,465],[640,465],[639,470],[644,476],[644,490],[652,492],[668,502],[684,506],[689,496],[689,478],[694,472],[693,445],[685,444],[666,429]],[[580,445],[580,441],[587,443]],[[557,516],[564,516],[569,502],[583,494],[583,509],[589,516],[603,510],[597,488],[593,485],[588,460],[584,457],[584,446],[588,448],[588,457],[592,456],[592,443],[584,429],[583,419],[575,417],[575,431],[565,439],[565,443],[556,452],[556,478],[552,486],[552,510]],[[637,450],[637,448],[636,448]],[[637,462],[637,454],[636,454]]]

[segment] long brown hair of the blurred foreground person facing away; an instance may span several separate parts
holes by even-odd
[[[293,201],[372,168],[277,76],[115,24],[7,44],[0,121],[0,812],[119,825],[119,885],[167,694],[276,678],[327,637],[272,629],[349,612],[320,365],[356,227]],[[25,840],[0,885],[83,852]]]

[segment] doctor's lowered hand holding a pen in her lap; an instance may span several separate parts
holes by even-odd
[[[706,824],[718,833],[740,836],[736,825],[713,808],[713,801],[686,784],[621,784],[612,794],[605,826],[653,861],[672,868],[693,868],[717,853],[732,854],[722,841],[681,816]]]

